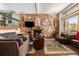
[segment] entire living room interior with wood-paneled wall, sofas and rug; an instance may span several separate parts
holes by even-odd
[[[0,56],[78,56],[78,7],[0,3]]]

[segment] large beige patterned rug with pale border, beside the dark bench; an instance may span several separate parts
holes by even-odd
[[[74,54],[75,51],[69,49],[67,46],[60,44],[56,40],[45,40],[44,43],[45,54]]]

